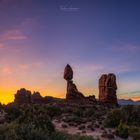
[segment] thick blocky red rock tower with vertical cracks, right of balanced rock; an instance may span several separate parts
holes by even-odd
[[[99,79],[99,101],[117,104],[116,91],[115,74],[103,74]]]

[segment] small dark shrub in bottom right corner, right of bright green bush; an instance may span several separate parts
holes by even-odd
[[[132,126],[129,128],[129,134],[134,140],[140,140],[140,128]]]

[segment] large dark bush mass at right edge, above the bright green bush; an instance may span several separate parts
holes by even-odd
[[[108,112],[104,124],[107,127],[116,127],[119,125],[120,121],[123,121],[129,126],[140,126],[140,107],[126,105],[121,108],[113,109]]]

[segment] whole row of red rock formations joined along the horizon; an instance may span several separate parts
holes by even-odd
[[[15,94],[14,103],[22,104],[47,104],[50,102],[68,102],[68,103],[117,103],[117,83],[116,76],[113,73],[103,74],[99,79],[99,100],[94,95],[85,97],[73,82],[73,70],[69,64],[64,69],[63,78],[67,81],[66,99],[59,99],[50,96],[42,97],[39,92],[34,92],[21,88]]]

